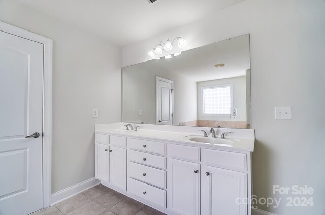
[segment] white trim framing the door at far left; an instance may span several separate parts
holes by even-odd
[[[0,30],[43,44],[43,165],[42,208],[51,203],[51,155],[52,155],[52,44],[49,38],[0,21]]]

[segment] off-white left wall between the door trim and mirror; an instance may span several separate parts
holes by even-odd
[[[53,39],[52,193],[94,177],[94,124],[121,119],[120,48],[12,0],[0,21]]]

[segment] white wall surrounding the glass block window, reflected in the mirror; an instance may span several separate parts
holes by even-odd
[[[239,108],[239,119],[230,119],[228,116],[203,116],[202,115],[202,87],[233,84],[233,108]],[[224,78],[212,81],[197,82],[198,120],[216,121],[246,121],[246,76]]]

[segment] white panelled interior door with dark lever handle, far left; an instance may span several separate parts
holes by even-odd
[[[42,111],[43,44],[0,31],[0,214],[42,208]]]

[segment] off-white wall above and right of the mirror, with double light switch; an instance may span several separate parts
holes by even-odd
[[[250,33],[253,193],[282,197],[276,214],[325,213],[325,1],[247,0],[122,49],[123,66],[148,60],[157,41],[180,36],[186,49]],[[175,50],[176,51],[176,50]],[[274,120],[293,106],[293,120]],[[272,185],[313,187],[313,207],[287,207]],[[299,197],[299,196],[298,196]]]

